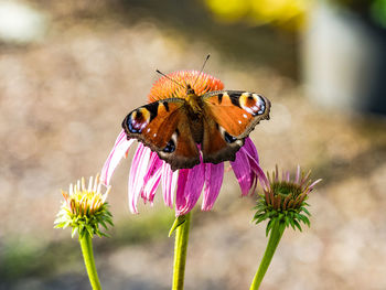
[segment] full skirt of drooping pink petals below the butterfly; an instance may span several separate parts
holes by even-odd
[[[122,130],[114,148],[107,158],[101,170],[101,181],[108,185],[119,161],[127,155],[127,152],[135,140],[127,140]],[[248,195],[255,191],[257,181],[265,179],[259,167],[257,150],[253,141],[247,138],[244,147],[236,153],[235,161],[230,162],[232,169],[242,189],[242,195]],[[201,210],[212,210],[224,178],[224,162],[218,164],[200,163],[192,169],[172,171],[170,165],[161,160],[156,152],[152,152],[142,143],[138,144],[132,159],[129,175],[129,207],[132,213],[138,213],[137,203],[139,196],[143,202],[152,204],[156,191],[162,184],[164,203],[173,208],[175,203],[175,215],[189,213],[196,204],[203,187],[203,202]],[[205,186],[204,186],[205,185]],[[174,191],[175,201],[174,201]]]

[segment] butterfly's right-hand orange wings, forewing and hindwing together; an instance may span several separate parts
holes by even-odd
[[[235,160],[255,126],[269,119],[270,101],[254,93],[239,90],[211,92],[202,96],[204,103],[204,162],[219,163]]]

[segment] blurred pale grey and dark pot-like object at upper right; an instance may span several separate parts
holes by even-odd
[[[303,42],[308,95],[329,107],[386,114],[386,30],[317,2]]]

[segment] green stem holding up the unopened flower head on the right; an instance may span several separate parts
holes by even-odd
[[[249,290],[257,290],[260,287],[264,276],[266,275],[269,264],[272,260],[276,248],[279,245],[282,234],[285,233],[286,225],[282,222],[276,221],[269,235],[266,251],[264,253],[262,260],[259,269],[257,270],[254,281],[250,284]]]

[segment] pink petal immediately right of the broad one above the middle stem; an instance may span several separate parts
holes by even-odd
[[[205,167],[205,190],[201,210],[211,211],[223,184],[224,162],[218,164],[206,163]]]

